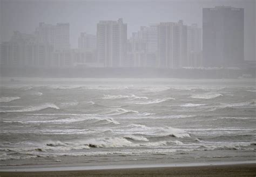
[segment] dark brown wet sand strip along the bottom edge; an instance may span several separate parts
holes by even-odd
[[[97,169],[56,172],[0,172],[0,176],[256,176],[256,164],[197,167]]]

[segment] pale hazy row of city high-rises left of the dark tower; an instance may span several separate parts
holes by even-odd
[[[80,33],[70,47],[69,23],[40,22],[32,34],[14,31],[1,44],[4,67],[202,67],[201,29],[183,21],[141,26],[127,39],[123,19],[99,21],[97,36]],[[187,47],[188,46],[188,47]]]

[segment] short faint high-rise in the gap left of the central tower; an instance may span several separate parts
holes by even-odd
[[[78,38],[78,49],[81,50],[95,50],[96,36],[89,35],[86,32],[81,32]]]

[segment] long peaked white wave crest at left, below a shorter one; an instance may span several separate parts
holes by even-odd
[[[21,110],[7,110],[7,111],[1,111],[1,112],[34,112],[34,111],[45,110],[46,108],[54,108],[56,110],[59,110],[59,107],[56,106],[55,104],[45,103],[42,105],[25,107]]]

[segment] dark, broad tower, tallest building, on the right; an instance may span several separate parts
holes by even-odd
[[[234,66],[244,60],[244,9],[203,9],[203,65]]]

